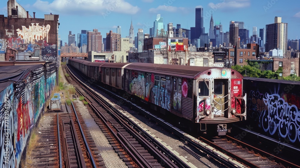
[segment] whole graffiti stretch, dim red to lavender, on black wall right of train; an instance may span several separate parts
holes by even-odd
[[[285,95],[251,91],[247,100],[249,115],[270,135],[278,134],[292,143],[300,142],[300,112],[284,98]]]

